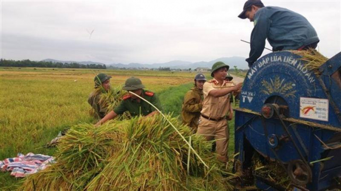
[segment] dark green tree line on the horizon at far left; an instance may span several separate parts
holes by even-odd
[[[5,60],[0,59],[0,66],[3,67],[37,67],[37,68],[92,68],[106,69],[105,64],[79,64],[79,63],[62,63],[62,62],[45,62],[31,60]]]

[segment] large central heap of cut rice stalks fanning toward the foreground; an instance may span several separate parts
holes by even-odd
[[[124,129],[122,148],[86,190],[226,190],[211,143],[166,117],[210,168],[161,115],[136,117]]]

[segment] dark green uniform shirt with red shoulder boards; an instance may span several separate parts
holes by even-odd
[[[155,93],[142,89],[141,97],[153,104],[157,109],[161,110],[161,104]],[[149,113],[155,111],[155,108],[149,105],[142,99],[137,102],[136,99],[132,99],[130,95],[125,95],[121,103],[114,108],[114,112],[120,115],[128,111],[132,117],[136,115],[146,116]]]

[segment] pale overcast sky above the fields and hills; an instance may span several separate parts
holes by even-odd
[[[4,59],[152,64],[249,54],[242,0],[0,1]],[[263,1],[307,18],[327,57],[341,49],[340,2]]]

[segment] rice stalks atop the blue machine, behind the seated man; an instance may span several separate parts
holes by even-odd
[[[321,53],[315,49],[308,49],[302,51],[291,51],[293,54],[299,55],[302,58],[300,60],[304,61],[305,67],[309,71],[313,71],[317,77],[321,75],[318,68],[324,64],[328,58],[323,56]]]

